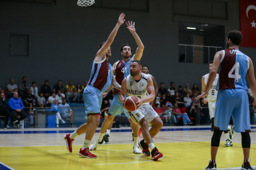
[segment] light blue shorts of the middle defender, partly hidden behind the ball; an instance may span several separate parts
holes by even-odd
[[[126,98],[126,95],[125,95],[125,98]],[[117,116],[117,115],[120,115],[123,111],[125,112],[125,116],[130,118],[127,111],[123,107],[123,103],[121,103],[121,101],[119,100],[119,92],[118,92],[116,93],[116,95],[114,95],[113,101],[109,108],[109,114],[111,114],[111,116]]]

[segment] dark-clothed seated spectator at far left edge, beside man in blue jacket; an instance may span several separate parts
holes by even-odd
[[[7,129],[8,120],[11,118],[11,122],[13,122],[13,125],[16,127],[16,123],[18,120],[16,120],[13,115],[11,115],[11,112],[8,110],[9,103],[8,99],[4,98],[4,93],[0,93],[0,113],[5,116],[4,120],[4,130]]]

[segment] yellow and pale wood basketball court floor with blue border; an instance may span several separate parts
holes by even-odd
[[[129,127],[113,128],[109,143],[92,151],[97,159],[78,156],[85,135],[73,142],[73,152],[66,150],[63,135],[76,128],[37,128],[26,130],[0,130],[0,169],[189,169],[203,170],[210,159],[210,127],[163,127],[154,138],[155,147],[164,154],[159,161],[133,154],[133,141]],[[256,126],[252,125],[252,130]],[[92,142],[99,135],[96,131]],[[252,166],[256,167],[256,133],[252,139]],[[142,139],[140,136],[139,139]],[[241,135],[235,133],[233,147],[224,148],[225,135],[217,154],[217,168],[240,169],[243,162]]]

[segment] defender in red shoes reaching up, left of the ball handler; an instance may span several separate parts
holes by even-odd
[[[114,27],[114,30],[107,38],[107,41],[99,46],[99,50],[94,58],[90,80],[88,82],[88,86],[83,91],[85,113],[88,116],[87,123],[81,125],[75,132],[64,135],[66,147],[69,152],[72,152],[72,142],[75,137],[87,132],[85,135],[85,142],[79,152],[79,156],[82,157],[97,158],[97,156],[90,153],[89,145],[92,137],[94,136],[95,130],[100,123],[102,94],[109,88],[109,86],[113,86],[117,89],[121,88],[111,72],[112,67],[111,64],[107,62],[107,59],[111,57],[110,45],[113,43],[119,27],[125,22],[124,18],[125,14],[120,14],[118,23]]]

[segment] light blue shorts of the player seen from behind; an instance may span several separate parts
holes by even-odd
[[[250,132],[250,111],[245,89],[221,89],[218,91],[214,116],[215,128],[228,130],[233,118],[236,132]]]

